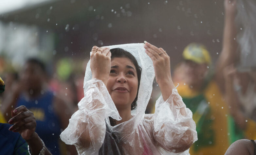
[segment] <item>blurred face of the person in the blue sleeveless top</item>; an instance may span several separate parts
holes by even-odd
[[[26,63],[21,72],[21,83],[26,91],[40,90],[44,80],[44,73],[39,65]]]

